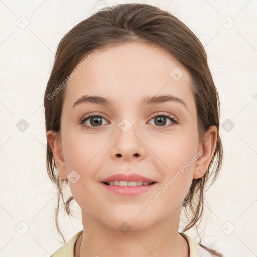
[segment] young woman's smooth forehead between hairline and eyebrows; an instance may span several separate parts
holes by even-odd
[[[189,73],[161,47],[126,42],[98,51],[87,53],[75,67],[77,74],[66,86],[65,107],[71,108],[83,95],[137,104],[148,95],[172,94],[192,103]]]

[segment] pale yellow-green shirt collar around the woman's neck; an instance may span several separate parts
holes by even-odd
[[[51,257],[74,257],[74,246],[83,233],[83,230],[75,234],[66,244],[59,248]],[[189,257],[211,257],[211,254],[199,246],[191,237],[184,233],[180,233],[187,241],[189,245],[190,255]]]

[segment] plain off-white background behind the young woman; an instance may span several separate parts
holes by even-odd
[[[224,161],[206,192],[202,243],[225,256],[256,256],[257,1],[137,1],[144,2],[196,34],[220,96]],[[64,34],[119,3],[130,1],[0,1],[0,256],[46,257],[62,246],[56,189],[46,171],[43,95]],[[83,229],[79,206],[71,207],[76,217],[60,214],[66,241]],[[186,234],[199,240],[195,229]]]

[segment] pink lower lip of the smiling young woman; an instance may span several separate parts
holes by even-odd
[[[101,184],[110,192],[124,196],[133,196],[152,189],[156,183],[147,186],[108,186],[104,183]]]

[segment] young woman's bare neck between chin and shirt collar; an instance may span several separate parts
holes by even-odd
[[[188,244],[178,232],[179,216],[168,217],[145,229],[132,229],[127,234],[103,225],[83,211],[82,222],[83,234],[76,244],[76,257],[189,256]]]

